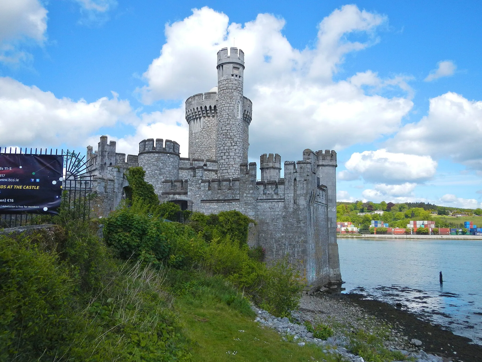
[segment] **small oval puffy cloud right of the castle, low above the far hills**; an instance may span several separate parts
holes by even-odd
[[[345,163],[346,171],[338,172],[340,180],[401,184],[423,182],[435,175],[437,162],[430,156],[390,153],[386,149],[355,152]],[[366,191],[366,190],[365,190]]]

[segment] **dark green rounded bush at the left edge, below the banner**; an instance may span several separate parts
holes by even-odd
[[[77,324],[72,320],[76,300],[67,266],[29,239],[1,236],[0,285],[0,360],[33,360],[45,352],[45,361],[62,355]]]

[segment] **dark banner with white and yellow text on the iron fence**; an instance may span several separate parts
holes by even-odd
[[[0,214],[57,213],[64,159],[54,154],[0,154]]]

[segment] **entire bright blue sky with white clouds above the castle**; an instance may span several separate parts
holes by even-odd
[[[338,152],[338,199],[482,201],[476,1],[0,0],[0,144],[174,139],[215,52],[246,53],[250,161]],[[214,61],[213,61],[214,59]]]

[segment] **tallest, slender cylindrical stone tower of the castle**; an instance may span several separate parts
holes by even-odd
[[[248,127],[252,103],[243,97],[244,53],[238,48],[217,52],[218,176],[239,177],[240,165],[248,162]]]

